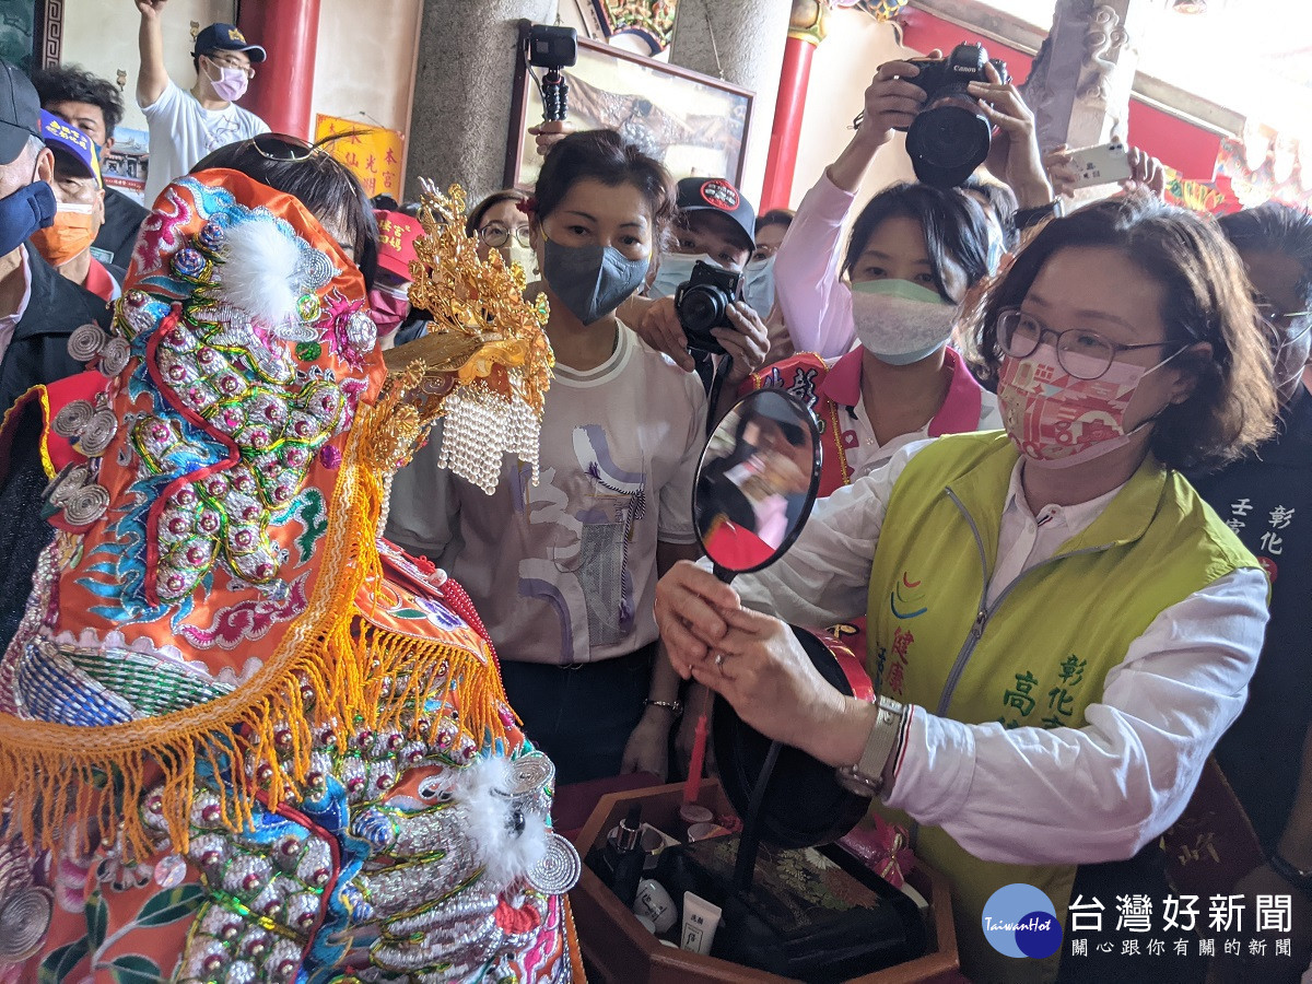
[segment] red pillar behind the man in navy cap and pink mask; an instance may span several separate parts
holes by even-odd
[[[310,101],[319,49],[319,0],[257,0],[241,4],[241,33],[269,52],[256,66],[249,109],[277,134],[310,139]]]

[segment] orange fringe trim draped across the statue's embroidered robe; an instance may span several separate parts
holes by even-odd
[[[432,741],[443,720],[422,712],[429,697],[457,703],[459,729],[478,745],[505,737],[505,691],[485,651],[378,628],[356,606],[358,590],[383,577],[375,541],[380,476],[396,458],[380,462],[379,450],[392,454],[405,443],[401,421],[404,430],[417,428],[413,415],[395,413],[400,388],[359,407],[314,596],[249,681],[209,703],[130,724],[76,727],[0,714],[0,802],[8,800],[10,825],[29,844],[54,848],[72,820],[80,832],[121,830],[129,850],[147,858],[157,833],[143,824],[140,806],[147,787],[163,779],[168,834],[173,849],[185,851],[197,765],[230,777],[220,785],[220,808],[224,825],[237,830],[251,824],[258,794],[279,803],[304,789],[312,736],[323,728],[338,743],[361,728]],[[255,778],[264,765],[272,769],[266,785]]]

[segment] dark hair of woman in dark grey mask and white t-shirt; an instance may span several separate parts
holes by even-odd
[[[652,249],[660,249],[674,219],[674,180],[665,167],[614,130],[569,134],[547,155],[534,188],[541,222],[559,207],[576,181],[593,178],[610,188],[628,184],[643,193],[652,218]]]

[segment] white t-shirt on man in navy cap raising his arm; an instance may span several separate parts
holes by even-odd
[[[224,109],[205,109],[195,97],[173,81],[148,106],[142,106],[151,127],[151,156],[146,172],[146,207],[151,207],[169,181],[181,177],[211,151],[269,127],[255,113],[230,102]]]

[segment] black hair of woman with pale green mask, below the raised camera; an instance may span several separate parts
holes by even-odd
[[[866,244],[886,219],[914,219],[925,231],[925,252],[934,274],[934,286],[943,300],[953,300],[943,285],[943,258],[950,258],[966,272],[966,286],[972,287],[988,276],[988,227],[979,202],[955,188],[933,188],[905,181],[876,194],[851,226],[848,255],[842,272],[851,276]]]

